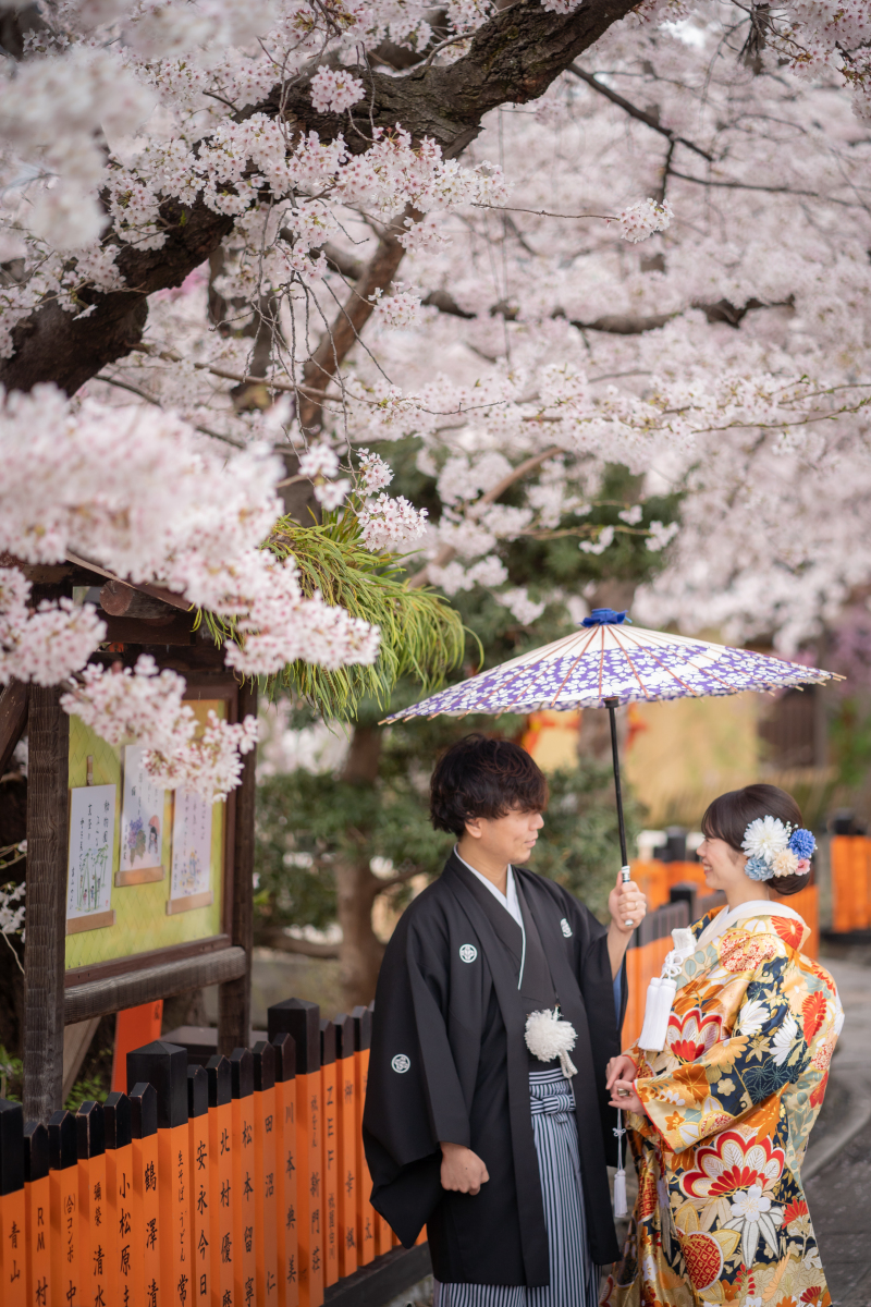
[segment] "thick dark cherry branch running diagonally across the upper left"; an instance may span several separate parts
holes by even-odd
[[[317,131],[321,140],[342,132],[354,153],[367,149],[372,127],[390,129],[400,123],[414,139],[432,137],[453,158],[478,135],[484,114],[535,99],[635,4],[585,0],[565,14],[551,13],[535,0],[517,3],[475,31],[467,54],[453,64],[424,64],[402,77],[355,68],[367,95],[350,125],[347,115],[315,111],[307,80],[276,86],[262,103],[239,116],[281,115],[291,131]],[[18,324],[16,353],[0,362],[0,383],[26,391],[38,382],[55,382],[73,393],[141,340],[148,297],[179,286],[232,230],[232,218],[214,213],[201,197],[189,208],[167,201],[161,218],[167,233],[161,250],[124,246],[119,254],[118,267],[129,289],[82,291],[82,301],[95,306],[85,319],[76,320],[51,302]]]

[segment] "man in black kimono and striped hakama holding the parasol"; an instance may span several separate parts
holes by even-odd
[[[443,755],[431,819],[457,843],[379,976],[363,1116],[372,1204],[406,1247],[427,1226],[441,1307],[516,1307],[520,1286],[539,1287],[538,1307],[594,1307],[595,1268],[619,1252],[605,1068],[645,901],[618,877],[606,928],[524,869],[546,804],[518,745],[473,735]],[[529,1014],[545,1010],[573,1027],[571,1078],[526,1044]]]

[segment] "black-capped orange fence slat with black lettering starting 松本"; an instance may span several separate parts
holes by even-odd
[[[234,1307],[253,1307],[257,1274],[255,1251],[255,1067],[248,1048],[230,1053],[232,1162],[232,1291]]]

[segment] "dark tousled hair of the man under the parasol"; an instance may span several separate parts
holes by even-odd
[[[543,812],[547,780],[511,740],[465,736],[441,754],[430,782],[430,819],[462,835],[470,817],[504,817],[513,808]]]

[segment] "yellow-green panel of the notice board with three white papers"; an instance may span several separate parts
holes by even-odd
[[[235,721],[238,685],[212,678],[185,702],[201,725],[210,711]],[[67,987],[230,944],[232,792],[209,804],[158,789],[141,750],[110,745],[76,716],[68,788]],[[97,818],[104,826],[91,829]]]

